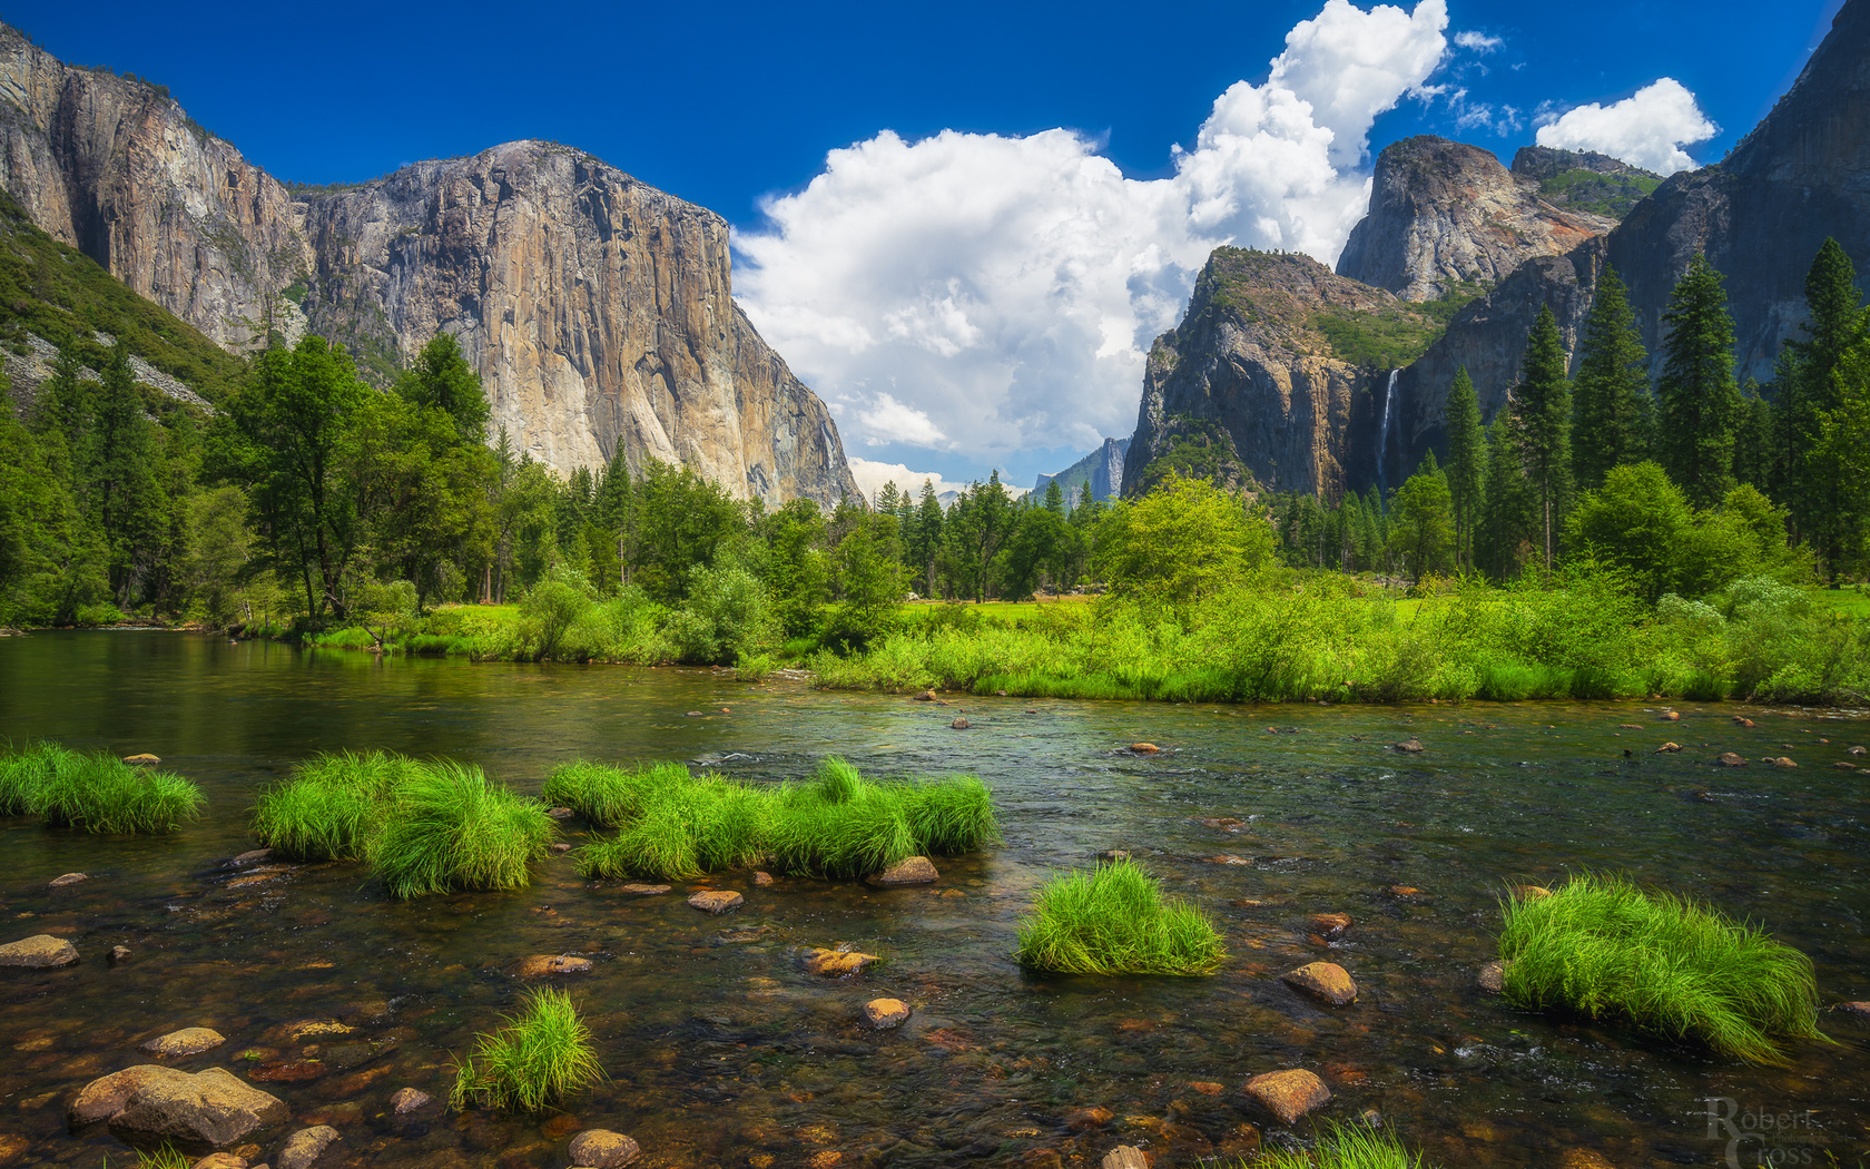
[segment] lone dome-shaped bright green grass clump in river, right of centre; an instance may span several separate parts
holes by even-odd
[[[1212,974],[1225,954],[1214,922],[1131,860],[1055,877],[1019,926],[1019,963],[1060,974]]]

